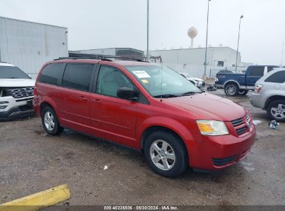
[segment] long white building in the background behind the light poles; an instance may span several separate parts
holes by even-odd
[[[161,56],[164,65],[176,71],[187,72],[202,78],[204,74],[205,48],[171,49],[150,51],[150,56]],[[221,69],[234,70],[236,65],[236,50],[230,47],[209,47],[207,50],[207,76],[214,78]],[[241,62],[238,53],[237,69],[243,70],[250,63]]]

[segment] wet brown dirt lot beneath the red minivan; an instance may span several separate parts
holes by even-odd
[[[285,205],[285,124],[270,130],[249,96],[232,98],[262,121],[248,157],[214,174],[189,169],[175,179],[154,174],[137,151],[70,130],[46,135],[38,117],[0,122],[0,203],[67,183],[70,205]]]

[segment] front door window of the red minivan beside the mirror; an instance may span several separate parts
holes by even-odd
[[[121,73],[121,71],[112,67],[101,66],[97,80],[96,93],[117,97],[116,91],[121,87],[134,88],[132,83],[130,83],[128,78]]]

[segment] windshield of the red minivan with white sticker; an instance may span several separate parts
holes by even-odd
[[[201,93],[193,83],[169,67],[127,66],[126,69],[137,78],[148,93],[154,97],[175,97]]]

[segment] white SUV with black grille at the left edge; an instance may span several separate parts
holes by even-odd
[[[19,67],[0,62],[0,120],[33,115],[34,85]]]

